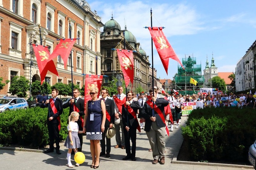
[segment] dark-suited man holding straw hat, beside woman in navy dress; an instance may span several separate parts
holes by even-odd
[[[113,123],[115,121],[115,104],[112,99],[108,98],[109,91],[106,88],[102,88],[100,93],[102,96],[102,100],[105,102],[105,105],[106,105],[105,130],[104,130],[104,133],[102,133],[102,140],[100,140],[100,145],[101,145],[100,156],[106,155],[106,157],[110,157],[111,143],[110,143],[110,139],[106,138],[106,135],[107,135],[107,129],[112,128]],[[105,138],[107,143],[107,150],[106,150]]]

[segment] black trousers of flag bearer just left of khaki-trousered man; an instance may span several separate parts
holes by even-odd
[[[123,132],[125,135],[125,151],[127,156],[131,156],[132,158],[135,157],[136,153],[136,130],[137,128],[130,127],[130,130],[127,131],[125,127],[123,127]],[[130,144],[130,139],[132,146]]]

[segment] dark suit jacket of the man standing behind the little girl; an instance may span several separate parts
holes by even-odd
[[[69,102],[70,102],[70,100],[63,104],[63,109],[69,107],[69,114],[68,114],[68,116],[70,116],[71,112],[74,111],[74,106],[73,106],[74,103],[70,104]],[[79,116],[83,116],[84,115],[84,99],[79,98],[76,101],[76,107],[79,109],[79,112],[78,112]],[[82,125],[81,119],[78,119],[78,121],[76,121],[76,123],[79,126],[79,130],[83,130],[83,125]],[[67,124],[68,124],[68,121],[67,121]]]

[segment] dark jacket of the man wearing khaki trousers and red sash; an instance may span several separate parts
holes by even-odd
[[[159,109],[161,110],[162,114],[165,117],[164,107],[169,104],[169,101],[164,98],[157,98],[155,104],[157,107],[159,107]],[[150,120],[150,117],[153,116],[152,110],[153,109],[151,109],[151,107],[147,103],[145,103],[140,112],[141,117],[143,117],[146,120],[146,122],[145,122],[145,131],[146,132],[149,132],[149,130],[151,128],[152,121]],[[156,111],[154,111],[154,114],[156,117],[157,126],[159,128],[165,127],[165,122],[162,121],[161,117],[157,114]]]

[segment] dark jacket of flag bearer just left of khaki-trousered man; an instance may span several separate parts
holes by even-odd
[[[128,127],[137,128],[137,126],[138,126],[138,122],[136,120],[137,117],[134,118],[130,113],[128,114],[129,125],[127,125],[127,113],[128,113],[128,111],[126,110],[126,106],[124,106],[124,105],[122,107],[123,127],[128,126]],[[133,109],[133,111],[135,112],[135,114],[137,114],[138,109],[141,107],[141,106],[139,106],[139,102],[138,101],[133,101],[130,106]]]

